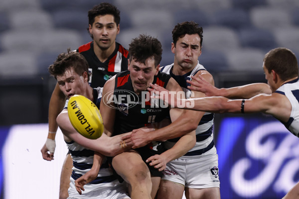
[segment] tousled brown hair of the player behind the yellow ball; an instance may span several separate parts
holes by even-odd
[[[58,55],[54,63],[49,66],[48,71],[55,79],[57,79],[56,77],[58,75],[63,75],[64,72],[70,68],[74,68],[78,75],[87,72],[89,81],[91,73],[88,71],[89,67],[86,59],[80,53],[71,51],[70,48],[67,49],[66,53]]]

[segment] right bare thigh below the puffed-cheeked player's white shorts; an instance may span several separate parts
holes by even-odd
[[[204,189],[185,189],[186,199],[220,199],[220,189],[218,187]]]

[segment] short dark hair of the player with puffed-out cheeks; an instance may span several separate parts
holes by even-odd
[[[202,45],[202,27],[198,25],[198,23],[194,21],[184,21],[181,23],[178,23],[174,26],[172,30],[172,40],[174,43],[174,46],[176,45],[176,42],[179,38],[182,38],[185,36],[185,34],[198,34],[200,37],[200,48]]]

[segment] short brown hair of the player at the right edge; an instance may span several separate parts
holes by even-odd
[[[264,57],[264,66],[271,73],[274,70],[283,81],[298,76],[298,62],[295,54],[287,48],[275,48]]]

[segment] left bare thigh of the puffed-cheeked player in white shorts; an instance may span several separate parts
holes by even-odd
[[[167,180],[161,180],[157,199],[181,199],[184,186]]]

